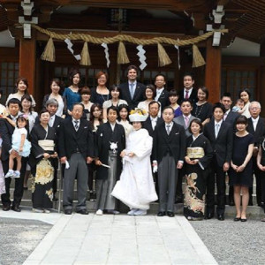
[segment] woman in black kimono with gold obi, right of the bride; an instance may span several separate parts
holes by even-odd
[[[205,209],[205,190],[208,165],[213,156],[208,139],[201,133],[202,124],[197,118],[189,126],[193,133],[186,140],[186,188],[184,215],[188,220],[202,220]]]

